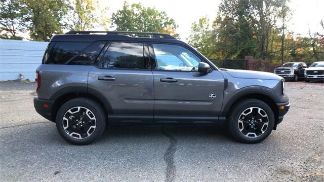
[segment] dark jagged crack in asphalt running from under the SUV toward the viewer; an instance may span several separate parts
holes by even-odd
[[[173,181],[176,176],[176,166],[174,164],[174,154],[177,151],[177,139],[170,133],[167,133],[165,129],[162,129],[162,133],[170,139],[170,144],[165,152],[163,159],[167,163],[166,168],[166,180],[167,182]]]

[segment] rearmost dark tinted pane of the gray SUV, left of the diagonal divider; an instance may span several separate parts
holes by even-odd
[[[45,64],[65,64],[70,58],[80,53],[91,43],[82,42],[57,42],[52,48]]]

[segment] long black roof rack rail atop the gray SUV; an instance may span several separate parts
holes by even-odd
[[[137,31],[69,31],[65,34],[91,34],[91,33],[106,33],[107,35],[143,34],[143,35],[151,35],[152,38],[158,38],[158,39],[176,39],[175,37],[167,33],[137,32]]]

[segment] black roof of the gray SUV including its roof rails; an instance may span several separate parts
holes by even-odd
[[[144,36],[140,37],[140,35]],[[54,35],[50,40],[50,42],[94,41],[141,41],[184,44],[182,41],[179,41],[176,38],[172,37],[172,35],[166,33],[133,31],[70,31],[61,35]]]

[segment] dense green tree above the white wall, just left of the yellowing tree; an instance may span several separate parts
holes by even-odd
[[[34,41],[49,41],[53,34],[62,33],[67,4],[63,0],[22,0],[23,27]]]

